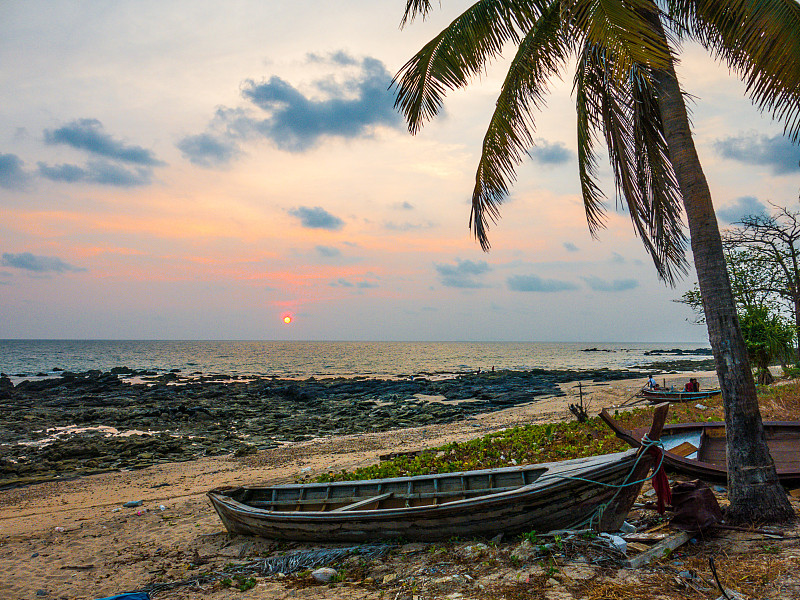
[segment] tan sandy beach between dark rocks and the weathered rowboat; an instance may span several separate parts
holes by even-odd
[[[674,379],[682,381],[687,376]],[[713,375],[700,376],[704,387],[711,384]],[[640,386],[640,380],[632,380],[584,384],[582,388],[591,399],[590,411],[597,412],[603,406],[623,403]],[[514,425],[571,418],[568,405],[576,401],[577,385],[566,385],[564,391],[565,397],[447,425],[316,439],[244,458],[206,458],[2,491],[0,570],[4,576],[0,598],[101,598],[141,588],[159,576],[165,580],[191,577],[197,573],[197,563],[222,564],[264,556],[275,550],[276,544],[228,536],[205,497],[209,489],[288,482],[302,475],[372,464],[387,451],[419,450]],[[139,500],[140,507],[122,507],[125,502]],[[284,544],[281,550],[293,547]],[[408,552],[406,559],[413,553]],[[404,568],[411,569],[407,563]],[[354,586],[344,582],[298,589],[284,585],[286,581],[262,578],[245,593],[253,598],[387,597],[386,589],[377,583]],[[391,597],[405,597],[401,588],[392,589]],[[474,597],[495,597],[484,592],[475,588]],[[242,594],[211,585],[177,588],[154,597],[223,599]]]

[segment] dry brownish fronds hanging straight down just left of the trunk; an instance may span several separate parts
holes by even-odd
[[[579,90],[579,125],[588,132],[602,127],[614,170],[617,199],[627,206],[634,229],[650,254],[659,276],[669,284],[686,271],[686,238],[681,223],[681,195],[650,75],[634,65],[625,82],[609,76],[613,57],[606,48],[587,43],[576,77]],[[583,115],[580,113],[583,112]],[[579,139],[579,146],[580,146]],[[592,154],[588,156],[593,158]],[[593,166],[592,164],[589,165]],[[591,171],[582,179],[587,220],[597,204]],[[582,182],[583,183],[583,182]]]

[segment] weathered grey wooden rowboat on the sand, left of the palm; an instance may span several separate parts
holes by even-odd
[[[667,408],[651,439],[658,439]],[[567,529],[592,518],[600,530],[616,531],[651,465],[650,455],[629,450],[461,473],[226,487],[208,497],[230,533],[286,540],[492,537]]]

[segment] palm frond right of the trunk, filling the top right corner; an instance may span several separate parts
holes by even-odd
[[[747,86],[753,104],[800,140],[800,4],[796,0],[668,0],[666,11]]]

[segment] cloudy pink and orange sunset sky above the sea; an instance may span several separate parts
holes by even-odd
[[[481,251],[506,63],[416,136],[387,89],[468,5],[401,30],[402,0],[1,3],[0,338],[705,342],[607,162],[589,235],[570,71]],[[782,125],[681,56],[720,224],[797,209]]]

